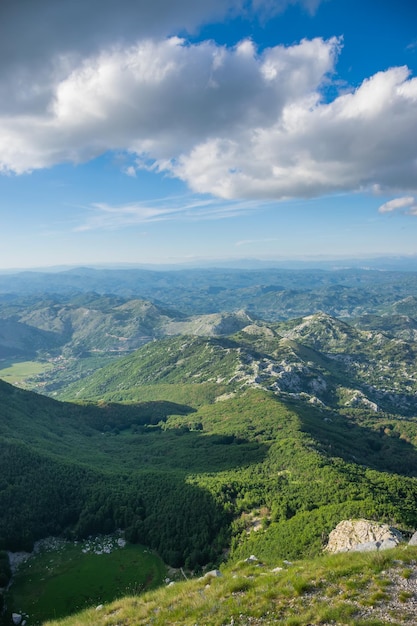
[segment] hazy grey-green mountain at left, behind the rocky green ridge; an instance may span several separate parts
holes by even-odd
[[[16,356],[126,352],[163,335],[183,316],[144,300],[81,294],[0,298],[0,346]]]

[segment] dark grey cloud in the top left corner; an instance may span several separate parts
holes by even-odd
[[[86,57],[143,38],[195,33],[228,16],[255,19],[322,0],[1,0],[0,111],[45,107],[58,82]]]

